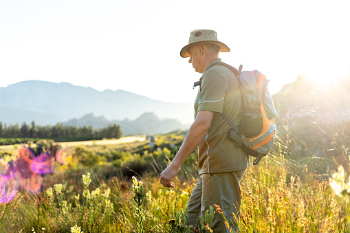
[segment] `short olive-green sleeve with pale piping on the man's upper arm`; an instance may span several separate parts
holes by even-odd
[[[223,101],[228,88],[223,76],[216,71],[208,71],[201,81],[201,94],[198,102],[198,111],[223,112]]]

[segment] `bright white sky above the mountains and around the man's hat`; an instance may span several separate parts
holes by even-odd
[[[223,62],[258,69],[272,94],[300,74],[317,82],[350,77],[349,7],[322,0],[1,0],[0,87],[69,82],[193,103],[201,74],[179,52],[197,29],[215,30],[231,49],[219,54]]]

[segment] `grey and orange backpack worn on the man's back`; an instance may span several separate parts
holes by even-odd
[[[276,132],[274,117],[277,113],[267,90],[269,80],[257,70],[241,71],[242,65],[239,70],[226,63],[213,65],[228,67],[238,77],[243,98],[242,124],[237,126],[225,113],[221,114],[231,126],[228,129],[228,139],[241,146],[248,155],[256,157],[254,165],[259,164],[261,158],[267,155],[274,145]]]

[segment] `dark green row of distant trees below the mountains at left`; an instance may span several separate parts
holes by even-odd
[[[78,140],[101,140],[103,138],[120,138],[122,131],[117,124],[111,124],[102,129],[92,129],[92,126],[69,126],[57,123],[54,126],[31,124],[3,124],[0,122],[0,137],[2,138],[43,138],[57,142]]]

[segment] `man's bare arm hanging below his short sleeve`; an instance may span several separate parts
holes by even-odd
[[[213,111],[198,112],[195,122],[188,129],[184,142],[179,151],[177,151],[173,161],[160,173],[160,183],[164,187],[174,188],[174,184],[171,181],[179,171],[180,166],[190,156],[190,153],[195,151],[195,148],[197,148],[201,140],[206,136],[206,133],[208,133],[213,116]]]

